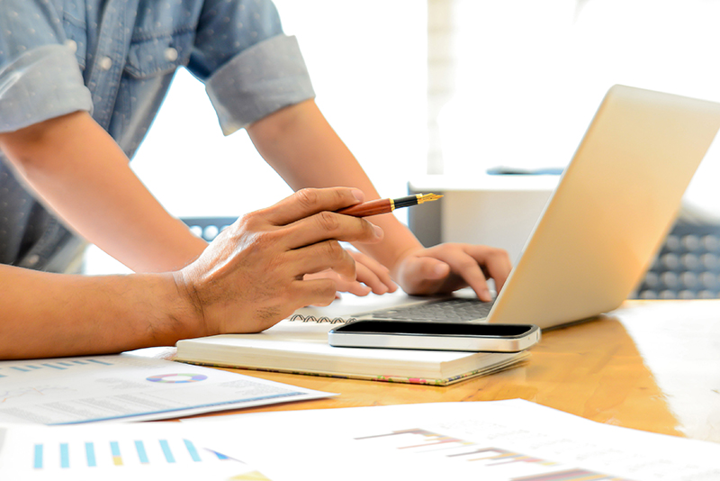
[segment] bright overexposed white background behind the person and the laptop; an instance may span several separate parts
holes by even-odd
[[[614,84],[720,101],[714,0],[275,5],[300,41],[316,102],[383,196],[405,195],[426,174],[563,168]],[[131,166],[182,218],[237,217],[291,193],[245,131],[222,136],[204,87],[184,70]],[[718,175],[711,150],[685,211],[720,220]],[[125,270],[98,250],[86,265]]]

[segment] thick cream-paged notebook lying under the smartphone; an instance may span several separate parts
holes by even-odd
[[[255,334],[180,340],[175,360],[229,368],[446,386],[516,366],[529,353],[335,348],[328,331],[346,317],[301,315]]]

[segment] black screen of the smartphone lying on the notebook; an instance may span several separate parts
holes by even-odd
[[[336,328],[347,333],[433,336],[522,337],[535,326],[527,324],[471,324],[460,322],[357,321]]]

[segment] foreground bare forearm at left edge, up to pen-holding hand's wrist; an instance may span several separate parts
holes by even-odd
[[[172,346],[205,335],[172,274],[82,277],[0,266],[0,358]]]

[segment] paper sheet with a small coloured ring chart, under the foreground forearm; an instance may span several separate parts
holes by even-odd
[[[131,354],[0,362],[0,422],[155,420],[330,395]]]

